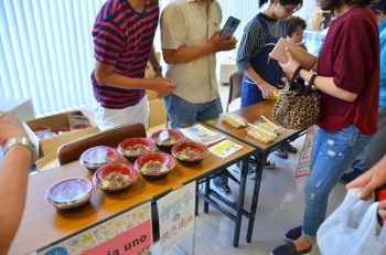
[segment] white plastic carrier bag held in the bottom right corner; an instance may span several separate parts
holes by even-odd
[[[323,222],[317,234],[322,255],[385,255],[386,224],[377,236],[377,204],[360,200],[351,189],[343,203]]]

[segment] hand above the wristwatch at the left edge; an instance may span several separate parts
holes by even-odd
[[[23,125],[13,114],[0,111],[0,146],[15,137],[28,137]]]

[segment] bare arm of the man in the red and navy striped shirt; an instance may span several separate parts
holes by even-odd
[[[95,78],[99,84],[126,89],[152,89],[162,95],[169,95],[175,91],[176,85],[170,79],[157,78],[130,78],[114,72],[112,65],[104,64],[95,60]]]

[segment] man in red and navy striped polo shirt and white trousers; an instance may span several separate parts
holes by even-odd
[[[108,0],[93,28],[95,71],[92,84],[97,104],[94,117],[101,130],[130,123],[148,123],[144,89],[160,95],[176,85],[162,77],[153,46],[159,20],[158,0]],[[156,78],[144,79],[150,64]]]

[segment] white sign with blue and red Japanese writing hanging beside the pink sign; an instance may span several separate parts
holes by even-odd
[[[194,233],[195,181],[157,201],[160,222],[160,254]]]

